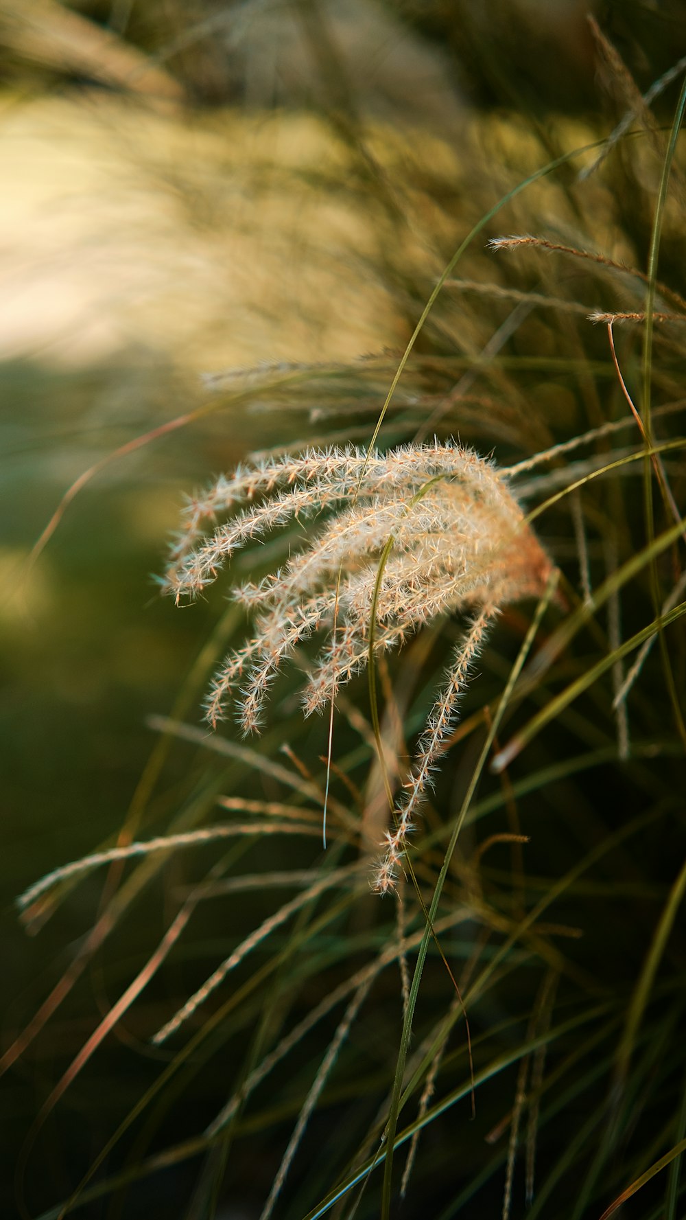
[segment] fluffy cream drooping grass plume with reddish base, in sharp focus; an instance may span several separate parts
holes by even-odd
[[[386,891],[489,625],[507,603],[542,592],[551,561],[508,489],[507,472],[454,442],[434,440],[386,454],[311,449],[221,477],[188,504],[164,587],[177,603],[193,598],[252,539],[324,514],[317,532],[308,523],[302,549],[281,569],[235,588],[255,615],[255,632],[216,673],[206,714],[216,725],[234,698],[244,731],[258,730],[281,662],[316,632],[327,643],[309,671],[303,709],[320,711],[370,654],[401,647],[440,615],[470,611],[386,836],[377,876]]]

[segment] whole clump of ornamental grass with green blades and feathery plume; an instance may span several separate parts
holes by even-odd
[[[177,479],[194,655],[19,898],[83,915],[2,1061],[55,1058],[24,1214],[684,1211],[685,67],[591,38],[613,118],[470,120],[467,176],[333,110],[402,342],[174,428],[262,439]]]

